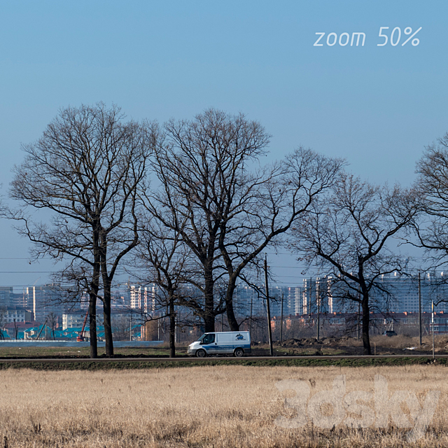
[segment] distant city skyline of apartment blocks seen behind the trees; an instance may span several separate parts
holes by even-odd
[[[310,287],[311,281],[311,287]],[[356,306],[349,302],[338,300],[335,295],[334,286],[331,283],[331,277],[309,277],[304,279],[301,284],[295,286],[269,286],[269,297],[271,300],[271,316],[281,316],[281,298],[283,296],[283,316],[302,316],[316,314],[344,314],[356,313]],[[389,313],[418,313],[418,276],[397,276],[391,274],[381,282],[386,282],[386,289],[391,292],[390,302],[382,302],[384,297],[377,297],[372,300],[372,313],[379,311],[384,314]],[[249,316],[265,316],[266,302],[261,291],[245,283],[239,283],[234,295],[235,309],[239,318]],[[45,285],[24,288],[22,294],[14,292],[13,287],[0,288],[0,309],[23,309],[31,311],[34,315],[33,321],[43,323],[49,313],[62,318],[62,315],[69,310],[82,311],[83,318],[87,311],[87,302],[80,297],[80,300],[72,300],[64,304],[57,299],[61,294],[60,286]],[[431,300],[435,302],[435,311],[437,313],[448,313],[448,302],[444,297],[448,293],[448,285],[440,283],[439,277],[421,276],[421,310],[422,312],[431,311]],[[129,283],[125,288],[116,288],[113,290],[112,307],[114,312],[117,310],[134,310],[146,316],[159,316],[164,312],[165,306],[161,304],[160,297],[163,292],[155,283],[139,285],[138,283]],[[320,309],[318,309],[318,301]],[[102,316],[101,302],[98,300],[99,316]],[[183,307],[176,307],[183,309]],[[74,312],[74,311],[70,311]],[[184,309],[182,312],[187,312]],[[217,317],[217,323],[221,321],[221,316]]]

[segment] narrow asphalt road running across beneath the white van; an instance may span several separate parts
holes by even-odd
[[[0,358],[0,363],[160,363],[165,361],[200,361],[200,360],[293,360],[293,359],[367,359],[367,358],[432,358],[428,355],[335,355],[335,356],[243,356],[235,358],[234,356],[208,356],[207,358],[181,357],[176,358]],[[448,355],[435,355],[435,358],[448,358]]]

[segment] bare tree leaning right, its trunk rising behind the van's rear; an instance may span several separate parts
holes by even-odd
[[[248,267],[255,267],[250,270],[255,271],[255,278],[260,277],[260,253],[267,246],[281,244],[291,225],[335,183],[342,165],[343,160],[298,148],[271,169],[241,172],[235,176],[235,185],[228,182],[230,200],[221,221],[218,247],[228,274],[225,306],[231,330],[239,329],[233,307],[237,280],[243,278],[254,286],[248,281]],[[237,188],[240,183],[242,189]]]

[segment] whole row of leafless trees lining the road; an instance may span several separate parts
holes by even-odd
[[[60,111],[23,147],[10,188],[18,207],[4,215],[33,241],[34,258],[64,262],[57,276],[73,300],[89,295],[92,357],[97,299],[113,355],[111,286],[120,264],[162,290],[174,356],[176,307],[193,311],[206,332],[221,314],[238,330],[237,282],[256,283],[263,251],[279,245],[331,275],[340,300],[360,303],[370,353],[370,297],[381,275],[403,270],[391,241],[446,254],[448,137],[426,150],[410,189],[372,186],[344,172],[344,160],[305,148],[263,163],[269,139],[242,114],[209,109],[158,125],[97,104]]]

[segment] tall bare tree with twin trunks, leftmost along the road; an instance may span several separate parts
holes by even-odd
[[[43,137],[23,147],[10,196],[20,232],[35,243],[36,258],[69,260],[69,271],[87,270],[90,356],[97,356],[96,301],[104,304],[106,354],[113,355],[111,283],[118,264],[137,245],[137,185],[144,179],[153,144],[151,125],[124,122],[116,106],[60,111]],[[29,209],[50,212],[50,224]],[[103,294],[99,295],[102,288]]]

